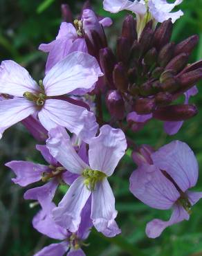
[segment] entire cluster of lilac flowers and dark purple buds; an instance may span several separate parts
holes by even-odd
[[[152,208],[174,209],[169,221],[147,223],[148,237],[189,219],[192,205],[202,197],[188,190],[196,185],[199,167],[187,144],[176,140],[155,151],[127,137],[127,131],[136,133],[152,118],[164,122],[167,134],[176,134],[197,113],[189,99],[198,92],[202,61],[190,64],[188,59],[199,38],[170,42],[173,23],[183,15],[171,11],[181,2],[104,0],[109,12],[133,12],[123,21],[116,53],[104,33],[113,23],[109,17],[99,17],[85,3],[80,18],[73,20],[63,5],[56,39],[39,46],[48,53],[44,80],[35,82],[12,60],[1,62],[0,136],[21,122],[44,143],[36,149],[46,165],[6,163],[16,175],[14,183],[39,185],[24,194],[41,207],[33,227],[61,240],[35,256],[84,255],[82,246],[93,226],[106,237],[120,234],[108,177],[129,148],[138,165],[129,179],[131,193]],[[183,96],[185,102],[176,103]],[[104,103],[110,118],[103,115]],[[56,205],[62,184],[68,190]]]

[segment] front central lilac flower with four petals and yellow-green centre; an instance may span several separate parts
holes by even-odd
[[[55,222],[75,232],[80,225],[82,209],[92,196],[93,225],[107,237],[118,235],[120,229],[114,220],[117,216],[115,199],[107,177],[113,174],[120,158],[125,154],[125,134],[109,125],[101,127],[99,136],[89,141],[89,165],[76,154],[62,127],[49,131],[47,147],[59,163],[73,174],[79,175],[58,207],[53,210]]]

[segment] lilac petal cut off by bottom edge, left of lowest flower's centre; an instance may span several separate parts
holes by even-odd
[[[63,241],[59,244],[50,244],[50,246],[44,247],[34,256],[64,256],[64,253],[68,250],[68,242]]]

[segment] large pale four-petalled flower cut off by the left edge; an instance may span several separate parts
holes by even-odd
[[[19,64],[11,60],[2,62],[0,93],[15,97],[0,102],[0,129],[35,113],[46,130],[61,125],[88,140],[98,129],[94,114],[58,96],[80,88],[91,91],[100,76],[102,72],[95,58],[80,52],[58,62],[39,85]]]

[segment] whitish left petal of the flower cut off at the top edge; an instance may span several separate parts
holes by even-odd
[[[109,12],[120,12],[121,10],[131,10],[138,15],[145,15],[146,7],[145,3],[138,0],[129,1],[129,0],[104,0],[103,2],[104,10]]]

